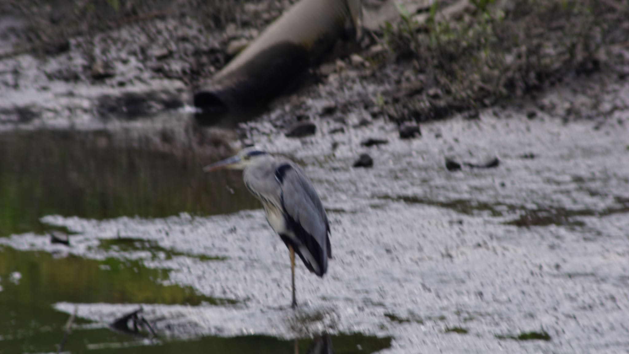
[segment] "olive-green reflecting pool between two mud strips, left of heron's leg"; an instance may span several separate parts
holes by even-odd
[[[77,256],[56,258],[50,253],[1,248],[0,304],[8,308],[48,307],[56,302],[110,304],[233,304],[233,300],[198,295],[189,287],[162,285],[167,270],[150,269],[140,261],[107,258],[87,260]],[[15,271],[21,282],[8,281]]]

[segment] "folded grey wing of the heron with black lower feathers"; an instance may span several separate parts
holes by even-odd
[[[323,203],[308,177],[295,164],[279,164],[276,180],[281,188],[280,198],[287,224],[317,263],[318,271],[310,266],[309,270],[322,277],[331,254],[330,224]],[[300,256],[308,266],[308,257]]]

